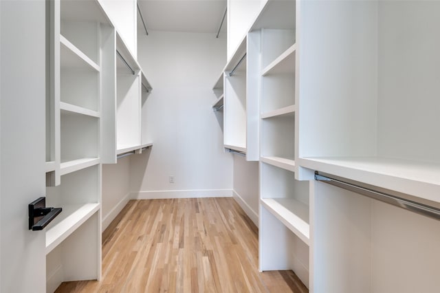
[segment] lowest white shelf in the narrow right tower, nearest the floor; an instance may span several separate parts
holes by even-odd
[[[304,243],[310,245],[309,206],[296,199],[264,198],[261,204]]]

